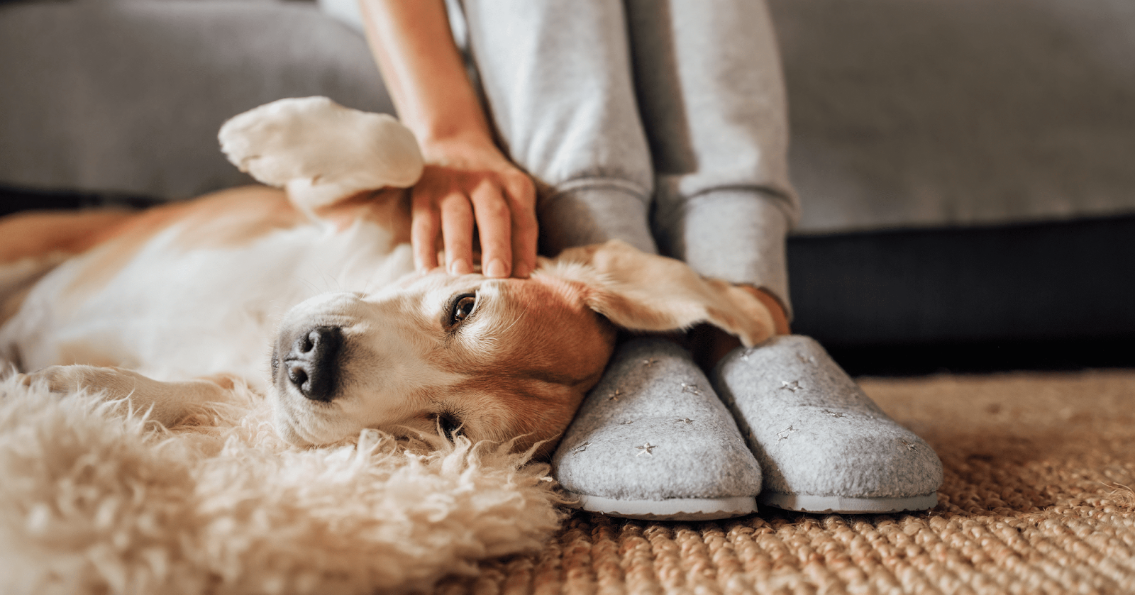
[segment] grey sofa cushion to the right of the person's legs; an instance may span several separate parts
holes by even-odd
[[[1135,212],[1135,2],[770,6],[800,232]]]

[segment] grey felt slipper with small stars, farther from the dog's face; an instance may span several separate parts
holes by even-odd
[[[737,349],[713,382],[764,471],[758,502],[842,513],[938,504],[934,450],[886,417],[812,338]]]

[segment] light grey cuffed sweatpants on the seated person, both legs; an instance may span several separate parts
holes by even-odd
[[[763,1],[461,8],[455,37],[499,142],[541,186],[544,251],[621,238],[788,308],[784,237],[799,207]]]

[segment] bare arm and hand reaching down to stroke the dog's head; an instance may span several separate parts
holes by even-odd
[[[473,271],[474,229],[488,277],[536,268],[536,191],[497,149],[442,0],[360,0],[367,35],[403,124],[428,167],[412,191],[418,269]]]

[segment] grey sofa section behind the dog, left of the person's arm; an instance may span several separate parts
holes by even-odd
[[[0,5],[0,184],[182,199],[250,183],[229,117],[283,97],[393,111],[365,41],[313,2]]]

